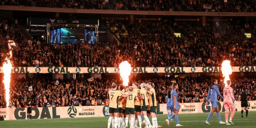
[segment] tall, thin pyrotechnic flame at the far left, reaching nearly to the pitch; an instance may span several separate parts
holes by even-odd
[[[3,67],[1,70],[3,70],[3,84],[5,87],[5,93],[6,93],[6,107],[9,107],[9,99],[10,99],[10,81],[11,81],[11,73],[12,73],[12,63],[10,59],[12,58],[12,46],[15,46],[15,42],[9,40],[8,41],[8,48],[9,53],[7,57],[5,58],[6,62],[3,62]]]

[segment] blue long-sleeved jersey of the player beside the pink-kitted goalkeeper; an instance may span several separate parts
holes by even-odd
[[[221,96],[220,91],[218,90],[218,86],[213,84],[208,91],[207,102],[209,101],[209,98],[211,102],[216,102],[218,100],[218,96],[224,99],[223,96]]]

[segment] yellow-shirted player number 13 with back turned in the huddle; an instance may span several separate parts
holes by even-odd
[[[133,88],[129,87],[128,92],[125,92],[125,94],[132,93]],[[132,94],[129,96],[126,96],[126,104],[125,104],[125,128],[128,127],[128,117],[130,114],[130,128],[134,128],[134,99],[136,95]]]

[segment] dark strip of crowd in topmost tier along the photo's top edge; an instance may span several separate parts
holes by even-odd
[[[1,5],[142,11],[255,12],[255,0],[0,0]]]

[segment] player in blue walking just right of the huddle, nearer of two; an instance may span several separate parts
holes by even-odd
[[[172,96],[171,96],[171,110],[174,112],[174,115],[172,115],[169,119],[172,119],[175,117],[176,120],[176,126],[183,126],[179,124],[179,118],[178,118],[178,113],[180,110],[180,104],[178,103],[178,94],[177,94],[177,89],[178,89],[178,84],[174,83],[172,84]],[[167,125],[169,125],[169,120],[166,119]]]

